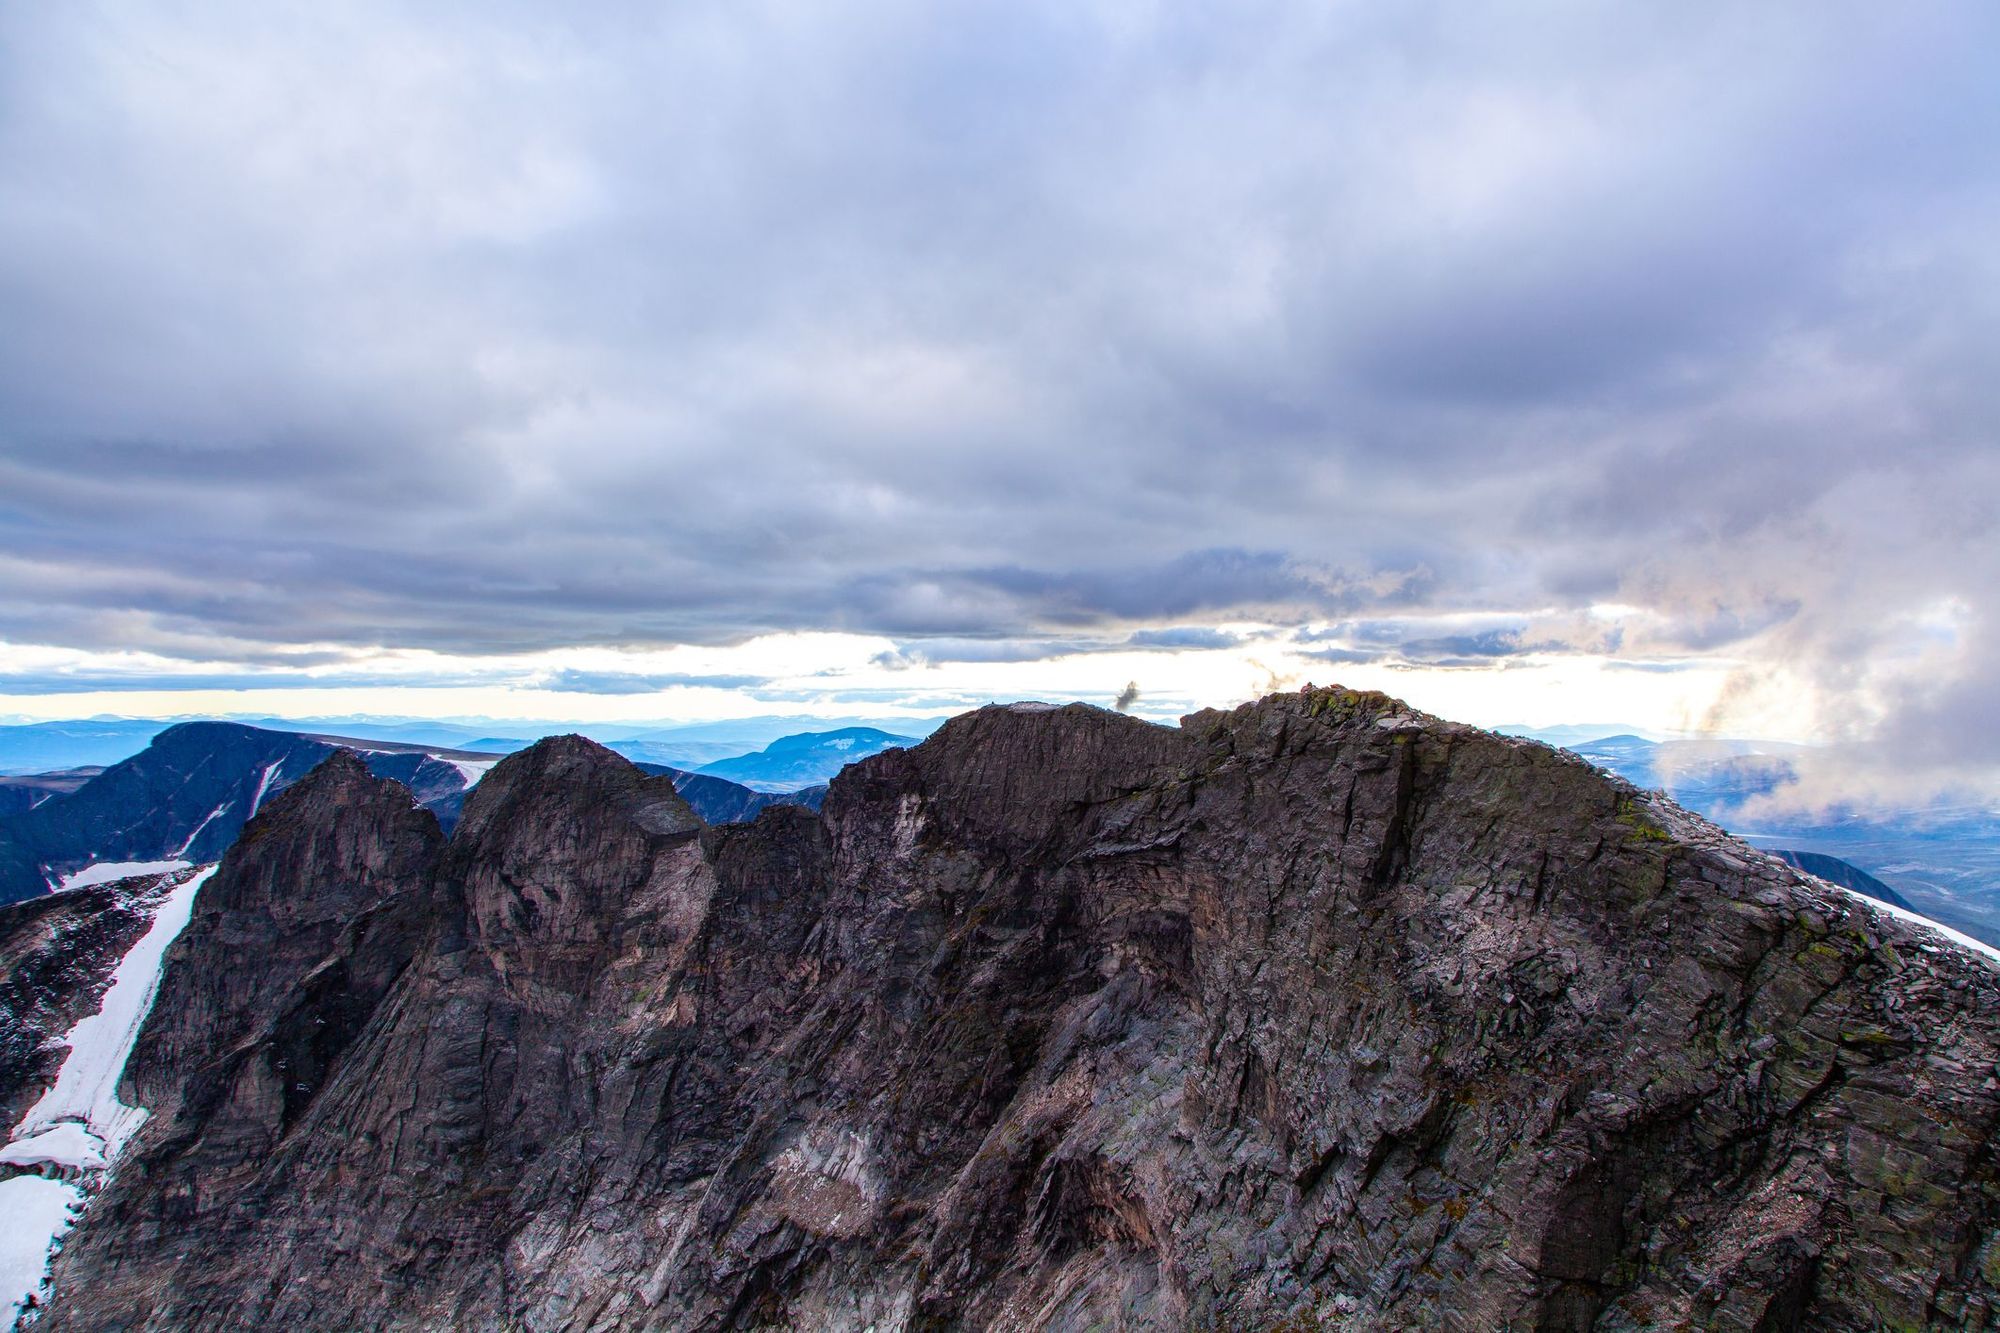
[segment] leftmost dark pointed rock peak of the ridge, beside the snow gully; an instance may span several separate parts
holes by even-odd
[[[258,1209],[272,1155],[402,977],[432,919],[438,821],[336,751],[258,815],[166,955],[120,1095],[144,1157],[90,1207],[116,1255],[178,1249],[202,1209]],[[406,1089],[408,1091],[408,1089]],[[146,1281],[108,1277],[106,1299]]]

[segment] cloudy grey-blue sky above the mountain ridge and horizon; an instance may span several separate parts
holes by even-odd
[[[2000,10],[0,8],[0,715],[2000,787]]]

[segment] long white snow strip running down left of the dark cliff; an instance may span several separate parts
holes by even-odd
[[[166,951],[194,915],[196,891],[214,873],[216,867],[206,867],[166,895],[152,925],[112,971],[98,1011],[64,1033],[70,1053],[56,1085],[0,1149],[0,1165],[64,1177],[0,1181],[0,1301],[8,1301],[8,1325],[28,1297],[40,1299],[48,1257],[76,1221],[76,1209],[102,1183],[126,1139],[146,1123],[144,1107],[118,1101],[118,1079],[160,991]]]

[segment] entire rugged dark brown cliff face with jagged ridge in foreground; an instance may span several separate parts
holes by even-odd
[[[2000,973],[1344,691],[704,829],[350,763],[202,889],[46,1329],[1988,1323]],[[306,905],[302,905],[306,903]]]

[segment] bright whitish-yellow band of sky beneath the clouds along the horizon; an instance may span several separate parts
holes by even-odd
[[[1440,632],[1454,628],[1446,624]],[[1010,699],[1110,703],[1126,683],[1140,689],[1134,713],[1172,719],[1228,707],[1276,689],[1344,683],[1382,689],[1420,709],[1460,721],[1556,725],[1616,717],[1660,733],[1698,731],[1730,681],[1728,660],[1690,660],[1672,671],[1632,671],[1626,662],[1580,654],[1518,654],[1502,662],[1426,666],[1408,660],[1326,660],[1326,640],[1300,642],[1296,630],[1236,624],[1228,646],[1116,648],[1052,652],[1028,660],[952,660],[910,652],[908,642],[872,634],[776,634],[738,646],[648,652],[588,648],[516,658],[426,654],[434,679],[392,654],[402,685],[282,687],[232,691],[82,691],[0,695],[0,711],[20,721],[90,715],[400,715],[478,719],[720,721],[766,713],[804,717],[934,717]],[[674,675],[722,675],[732,683],[658,685],[612,693],[542,685],[562,673],[652,683]],[[486,677],[490,683],[466,685]],[[742,679],[744,683],[736,683]],[[1784,707],[1782,693],[1754,717],[1748,735],[1794,737],[1810,717]],[[1796,697],[1792,701],[1796,705]]]

